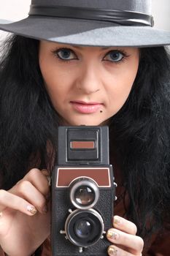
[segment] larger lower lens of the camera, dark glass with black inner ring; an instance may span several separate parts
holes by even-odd
[[[88,247],[101,238],[104,232],[104,222],[94,209],[77,209],[69,215],[65,223],[66,235],[72,244]]]

